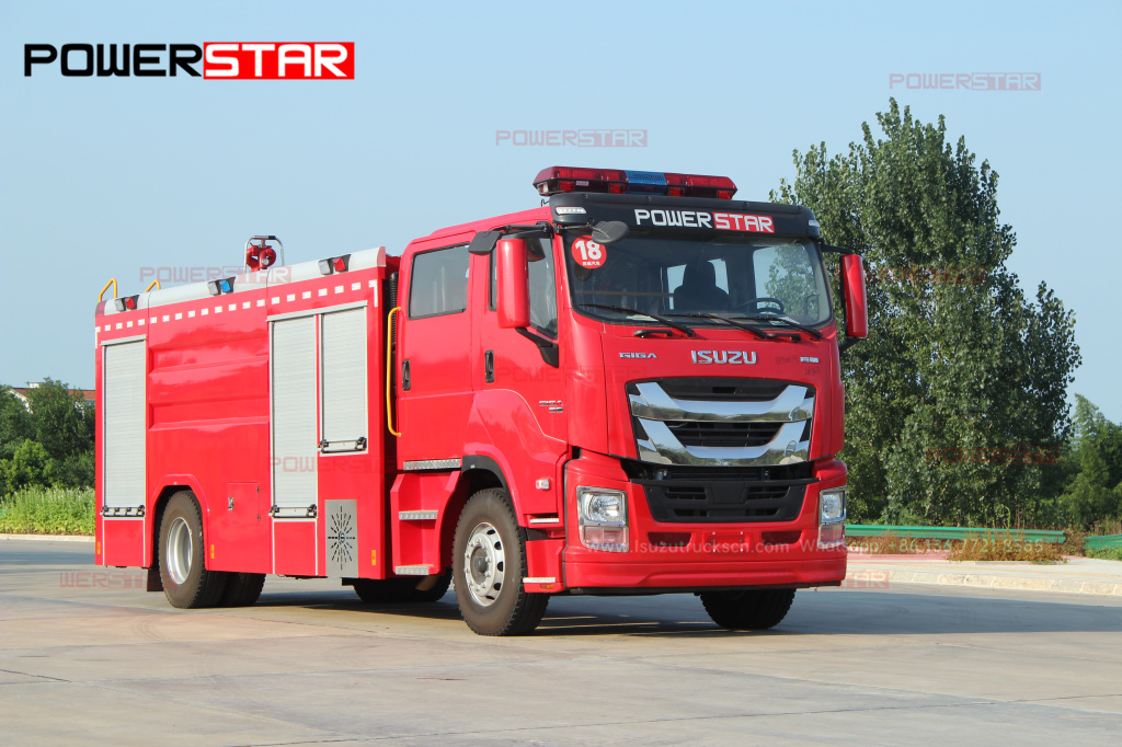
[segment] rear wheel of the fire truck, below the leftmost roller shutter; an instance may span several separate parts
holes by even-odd
[[[199,501],[190,490],[172,496],[159,520],[159,578],[172,607],[214,607],[227,574],[206,569],[206,544]]]

